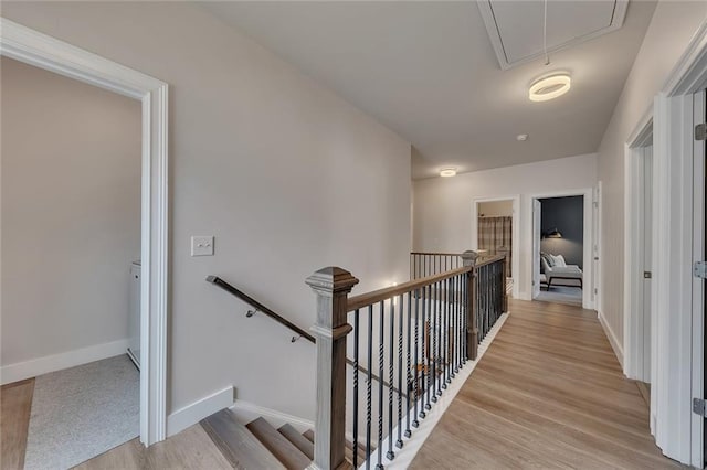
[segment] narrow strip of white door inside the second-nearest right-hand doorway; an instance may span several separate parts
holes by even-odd
[[[653,146],[643,148],[642,162],[642,191],[641,209],[642,209],[642,224],[639,233],[641,249],[642,249],[642,265],[641,270],[641,310],[643,323],[642,334],[642,351],[643,361],[641,364],[641,380],[646,383],[651,383],[651,289],[653,278]]]

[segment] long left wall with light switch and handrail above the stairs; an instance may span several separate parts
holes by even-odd
[[[184,2],[3,2],[2,14],[170,84],[169,409],[231,384],[313,418],[315,350],[204,281],[307,329],[304,284],[338,265],[363,292],[408,278],[410,145]],[[214,235],[191,258],[189,237]]]

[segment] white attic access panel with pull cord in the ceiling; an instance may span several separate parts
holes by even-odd
[[[477,3],[500,68],[542,57],[542,0]],[[548,1],[547,7],[547,46],[556,52],[620,29],[629,0]]]

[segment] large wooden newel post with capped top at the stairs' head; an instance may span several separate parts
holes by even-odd
[[[346,322],[348,295],[358,279],[345,269],[328,267],[306,282],[317,293],[317,416],[314,462],[309,468],[336,469],[344,463],[346,448]]]

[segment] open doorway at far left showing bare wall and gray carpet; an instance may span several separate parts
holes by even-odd
[[[0,67],[3,392],[28,393],[24,467],[70,468],[139,436],[141,105]]]

